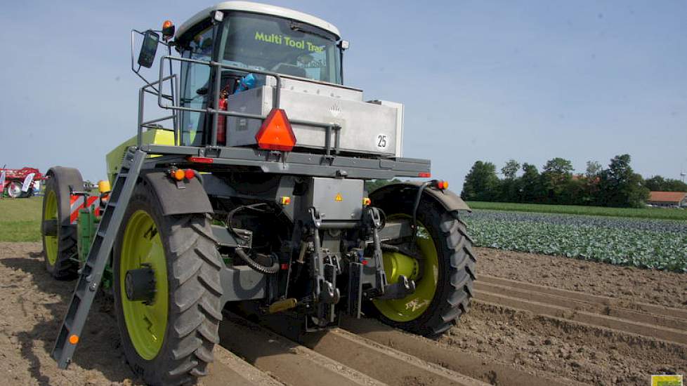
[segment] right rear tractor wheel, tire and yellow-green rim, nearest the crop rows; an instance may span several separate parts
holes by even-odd
[[[386,198],[389,198],[388,196]],[[401,197],[399,197],[401,198]],[[374,202],[388,219],[410,218],[411,200]],[[405,274],[417,279],[416,291],[398,300],[374,300],[385,324],[428,337],[436,337],[468,311],[473,296],[476,258],[464,222],[438,202],[423,197],[417,211],[417,247],[421,262],[399,252],[384,253],[384,270],[390,283]]]

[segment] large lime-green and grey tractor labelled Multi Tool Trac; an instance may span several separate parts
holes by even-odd
[[[103,291],[151,385],[205,375],[227,310],[306,332],[376,317],[428,337],[468,310],[469,207],[430,161],[402,157],[403,105],[343,85],[348,46],[325,20],[245,1],[132,30],[138,133],[107,154],[98,191],[75,168],[47,173],[46,269],[77,279],[60,368]],[[169,114],[146,119],[147,96]],[[414,180],[365,189],[394,178]]]

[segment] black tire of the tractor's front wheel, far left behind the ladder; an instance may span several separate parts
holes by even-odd
[[[43,257],[46,269],[55,279],[74,279],[77,277],[79,264],[72,257],[78,258],[77,251],[77,226],[70,222],[70,187],[74,190],[81,190],[84,180],[81,173],[75,168],[65,168],[55,166],[48,171],[46,189],[43,198],[43,214],[46,211],[46,198],[50,192],[55,192],[58,206],[58,251],[55,264],[51,264],[46,253],[46,237],[41,237],[43,241]],[[45,215],[41,217],[41,222]],[[41,227],[43,225],[41,224]]]

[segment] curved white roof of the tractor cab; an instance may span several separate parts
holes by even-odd
[[[313,15],[308,15],[307,13],[294,11],[289,8],[282,8],[277,6],[270,6],[269,4],[253,3],[251,1],[224,1],[219,4],[215,4],[209,8],[205,8],[203,11],[196,13],[192,18],[186,20],[176,31],[176,37],[183,35],[188,29],[196,25],[198,22],[205,20],[210,17],[210,13],[213,11],[244,11],[252,13],[262,13],[263,15],[274,15],[280,18],[287,18],[292,20],[297,20],[299,22],[304,22],[309,25],[314,25],[315,27],[320,27],[325,29],[332,34],[335,34],[337,38],[341,38],[339,29],[336,28],[332,23],[325,20],[317,18]]]

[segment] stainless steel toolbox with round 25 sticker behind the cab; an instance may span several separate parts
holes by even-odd
[[[234,112],[267,115],[272,109],[275,88],[266,86],[242,91],[228,98],[228,109]],[[289,119],[337,123],[341,125],[338,149],[346,152],[381,154],[400,157],[403,137],[403,105],[386,102],[363,102],[362,91],[326,84],[288,79],[282,84],[280,108]],[[227,145],[245,146],[256,143],[261,121],[228,117]],[[325,129],[292,124],[297,147],[322,149]],[[335,143],[332,132],[330,143]]]

